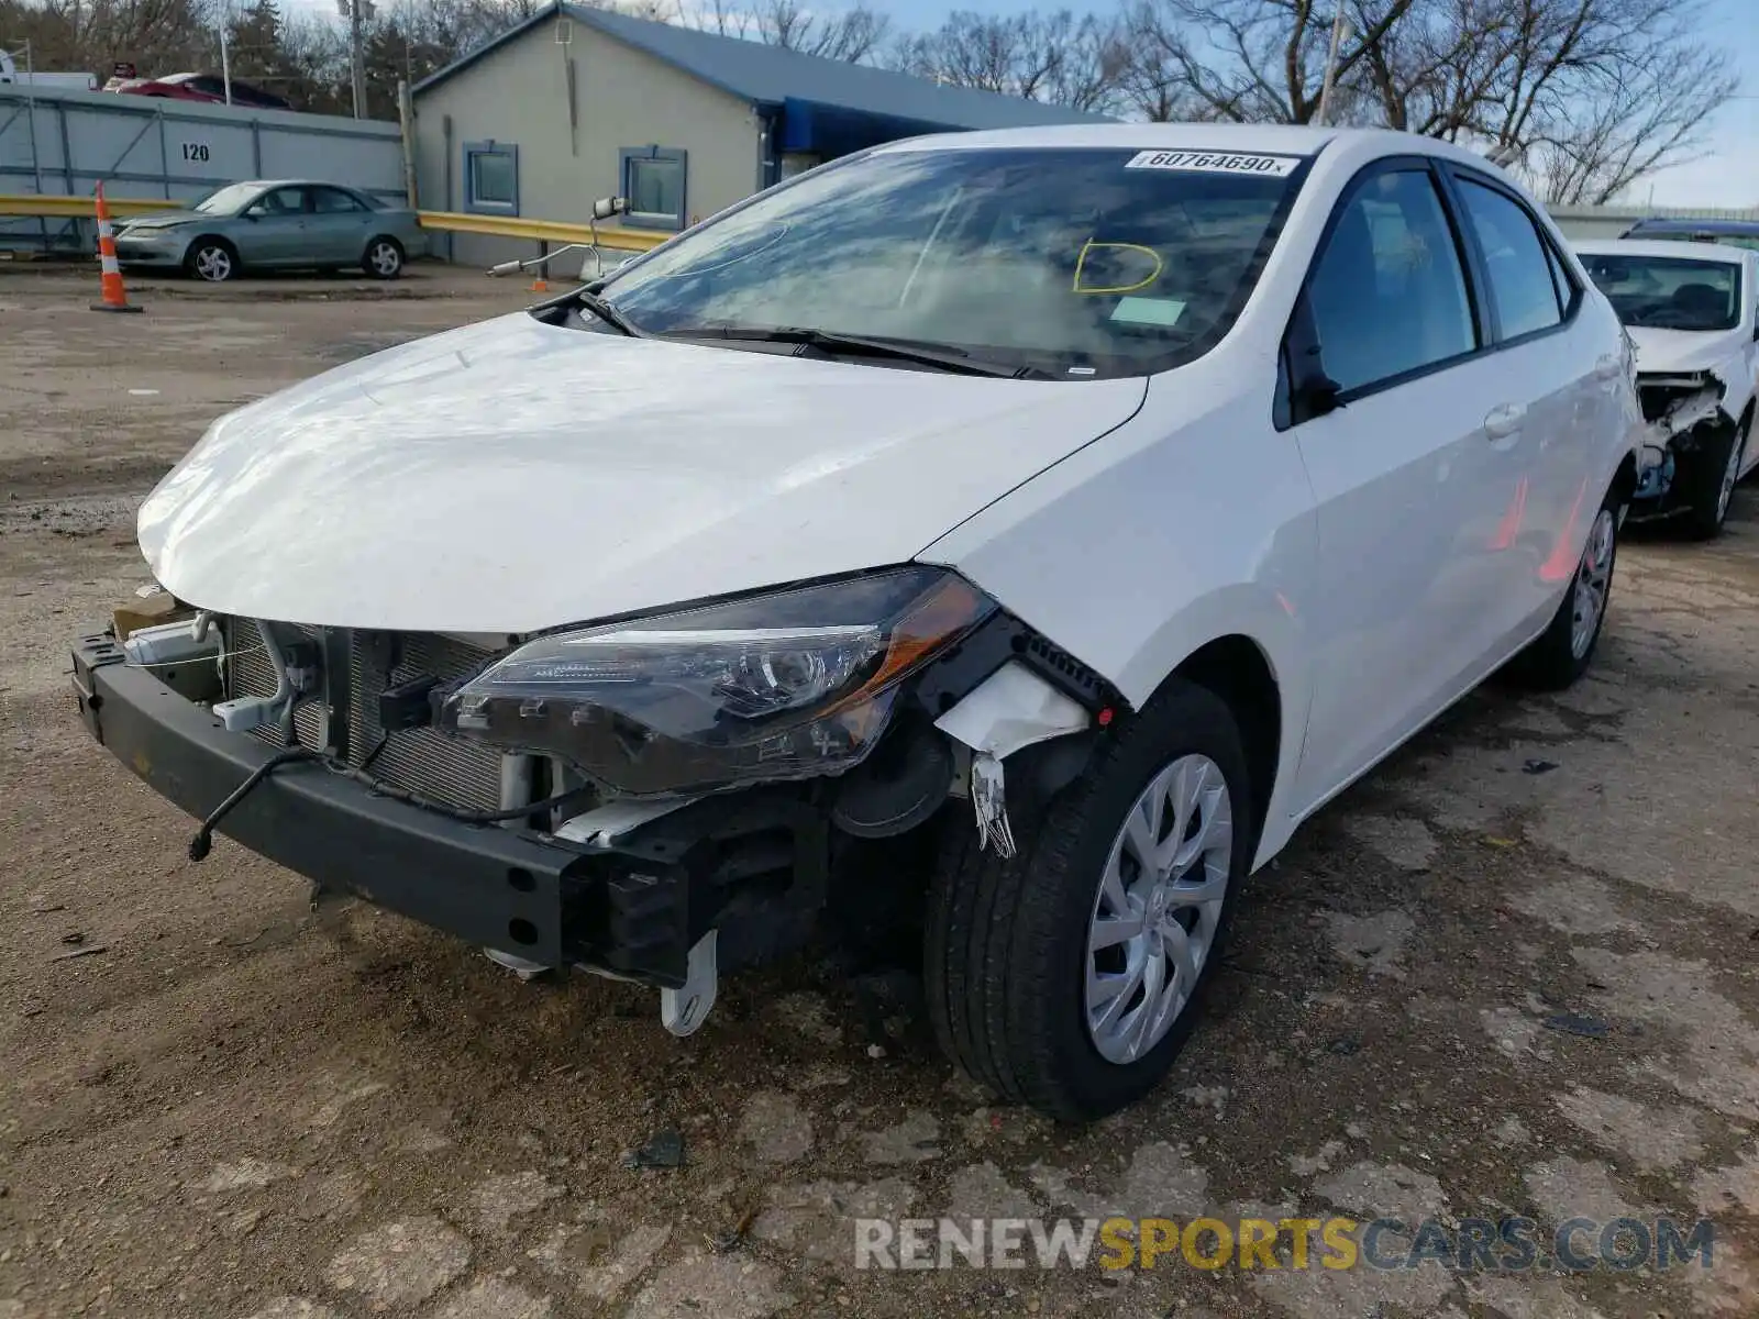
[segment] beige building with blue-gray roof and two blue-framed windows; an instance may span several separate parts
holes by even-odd
[[[1099,118],[568,4],[419,83],[413,104],[422,209],[579,223],[623,195],[623,223],[661,232],[878,142]],[[450,243],[470,264],[533,251]]]

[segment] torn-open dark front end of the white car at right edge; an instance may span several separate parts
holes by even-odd
[[[1631,515],[1671,517],[1715,499],[1738,419],[1715,371],[1638,373],[1643,404],[1643,468]]]

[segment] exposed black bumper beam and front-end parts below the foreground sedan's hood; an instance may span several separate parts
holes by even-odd
[[[130,631],[118,616],[76,644],[74,695],[99,742],[204,821],[192,858],[223,832],[310,878],[313,897],[361,897],[517,971],[580,967],[656,987],[667,1029],[690,1034],[719,974],[809,937],[832,874],[864,844],[966,798],[953,809],[976,821],[948,816],[948,827],[1008,848],[1010,798],[1020,809],[1071,781],[1122,709],[1098,675],[955,575],[885,577],[869,579],[869,594],[902,601],[904,623],[874,654],[860,654],[865,640],[843,652],[878,681],[851,670],[813,718],[760,721],[763,737],[732,747],[744,730],[691,740],[686,698],[702,675],[718,700],[739,698],[734,665],[607,679],[614,654],[628,663],[631,651],[556,658],[580,633],[485,645],[494,638],[186,608]],[[932,637],[938,626],[948,631]],[[811,640],[818,649],[788,654],[836,663],[827,644],[857,644]],[[545,695],[545,677],[563,682]],[[614,695],[570,709],[591,681]],[[790,681],[809,684],[813,665]],[[524,728],[489,732],[508,719]],[[647,791],[619,793],[580,763]],[[695,790],[653,791],[658,774]]]

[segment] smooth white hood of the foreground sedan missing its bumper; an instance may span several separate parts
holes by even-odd
[[[223,614],[522,633],[908,561],[1143,392],[514,313],[220,419],[141,506],[141,549]]]

